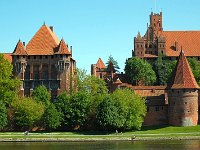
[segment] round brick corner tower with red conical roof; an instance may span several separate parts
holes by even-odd
[[[168,85],[169,124],[194,126],[198,122],[198,89],[184,52],[181,51],[172,83]]]

